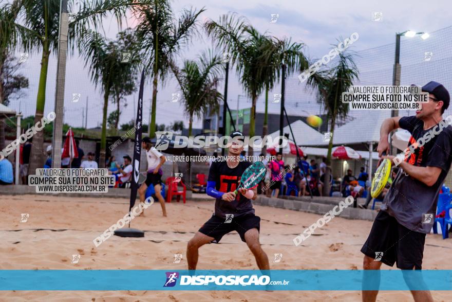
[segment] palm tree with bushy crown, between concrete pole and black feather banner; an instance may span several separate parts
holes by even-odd
[[[127,43],[134,39],[121,39],[124,37],[124,33],[119,33],[117,37],[118,41],[109,41],[101,34],[90,31],[85,34],[80,44],[80,52],[85,59],[85,67],[89,68],[91,80],[95,82],[96,86],[101,86],[104,94],[100,168],[105,167],[108,99],[111,94],[114,94],[115,87],[122,85],[124,75],[133,74],[134,70],[136,72],[137,66],[141,62],[139,56],[134,55],[136,45]],[[122,54],[125,52],[132,54],[128,63],[122,63]]]

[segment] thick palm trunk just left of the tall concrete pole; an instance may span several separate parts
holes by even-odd
[[[36,113],[34,115],[34,124],[44,116],[44,106],[46,103],[46,86],[47,86],[47,69],[49,66],[49,43],[46,39],[43,42],[43,54],[41,59],[41,74],[39,77],[39,86],[37,88],[37,97],[36,97]],[[31,147],[30,153],[30,164],[28,168],[28,174],[33,175],[36,172],[37,168],[42,168],[44,164],[44,131],[38,131],[33,136],[33,145]],[[59,147],[59,146],[56,146]]]

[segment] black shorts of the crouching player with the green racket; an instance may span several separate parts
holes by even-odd
[[[260,217],[254,214],[246,214],[239,217],[233,217],[230,223],[224,223],[225,218],[219,218],[217,216],[212,216],[207,222],[205,222],[199,232],[213,237],[213,243],[218,243],[221,237],[235,230],[243,242],[245,241],[245,233],[252,229],[257,228],[259,232],[260,229]]]

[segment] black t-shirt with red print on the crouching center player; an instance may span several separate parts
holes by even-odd
[[[213,162],[209,170],[209,182],[215,182],[215,189],[220,192],[231,192],[237,189],[238,181],[243,172],[251,164],[249,162],[239,162],[238,166],[231,169],[226,162]],[[250,199],[237,193],[235,200],[229,202],[217,198],[215,201],[215,216],[225,218],[226,214],[233,214],[234,217],[248,213],[254,214],[253,204]]]

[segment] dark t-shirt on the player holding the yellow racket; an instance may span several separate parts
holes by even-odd
[[[416,146],[405,162],[420,167],[438,167],[441,173],[430,187],[399,169],[381,208],[403,226],[416,232],[429,233],[432,223],[423,223],[423,217],[424,214],[436,215],[438,194],[452,162],[452,127],[447,126],[439,131],[439,125],[436,125],[424,130],[424,122],[415,116],[402,117],[399,125],[411,133],[408,146]],[[432,134],[432,131],[437,133]],[[419,146],[417,141],[421,137],[425,139],[428,132],[431,139]]]

